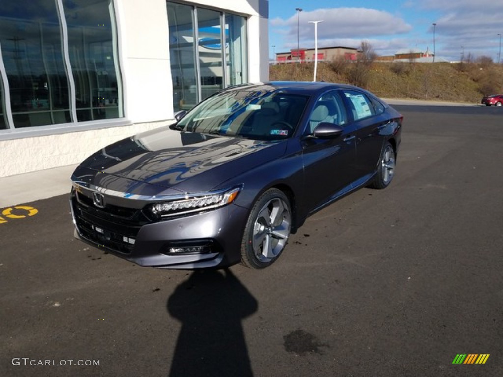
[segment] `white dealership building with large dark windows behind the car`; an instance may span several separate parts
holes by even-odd
[[[268,79],[268,0],[5,0],[0,177],[71,165]]]

